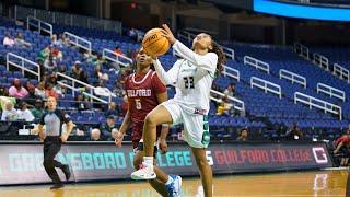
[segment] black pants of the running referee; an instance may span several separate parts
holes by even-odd
[[[48,136],[44,140],[44,169],[47,175],[52,179],[55,184],[60,184],[59,178],[55,167],[62,169],[65,165],[55,160],[56,154],[61,149],[60,137]]]

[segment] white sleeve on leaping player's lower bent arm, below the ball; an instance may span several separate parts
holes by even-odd
[[[167,72],[162,67],[162,63],[160,60],[158,59],[153,60],[153,65],[154,65],[154,69],[158,77],[164,84],[175,84],[177,81],[178,71],[183,61],[184,60],[177,60]]]

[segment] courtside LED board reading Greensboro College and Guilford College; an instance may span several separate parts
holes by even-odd
[[[165,172],[198,176],[196,161],[188,146],[170,143],[165,155],[158,154],[158,165]],[[49,183],[39,142],[0,142],[0,185]],[[130,179],[131,144],[116,148],[108,142],[69,142],[56,157],[69,163],[71,182]],[[313,143],[212,143],[207,158],[214,174],[308,170],[332,166],[323,142]],[[65,177],[58,170],[60,177]]]

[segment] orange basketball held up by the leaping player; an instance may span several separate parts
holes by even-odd
[[[170,43],[164,37],[164,30],[162,28],[152,28],[145,33],[142,47],[149,55],[161,56],[165,54],[170,48]]]

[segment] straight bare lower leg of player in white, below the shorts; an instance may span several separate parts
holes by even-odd
[[[212,196],[212,171],[208,164],[205,148],[191,148],[196,158],[196,163],[200,172],[201,184],[203,185],[205,196]]]

